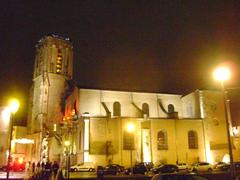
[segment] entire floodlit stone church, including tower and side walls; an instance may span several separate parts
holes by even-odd
[[[228,154],[221,92],[188,95],[82,89],[72,80],[73,46],[46,36],[36,46],[28,134],[33,161],[193,163]],[[132,127],[131,131],[128,129]],[[66,146],[64,142],[70,142]],[[239,150],[234,148],[234,156]]]

